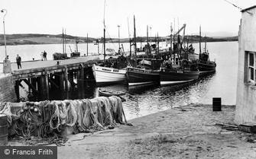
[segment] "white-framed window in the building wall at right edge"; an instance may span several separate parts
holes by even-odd
[[[248,82],[255,84],[255,52],[248,52]]]

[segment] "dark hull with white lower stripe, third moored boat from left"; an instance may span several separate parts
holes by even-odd
[[[190,82],[199,78],[199,72],[169,71],[160,72],[160,85],[175,85]]]

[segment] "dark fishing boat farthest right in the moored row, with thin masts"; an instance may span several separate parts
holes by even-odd
[[[198,68],[200,72],[200,76],[210,75],[215,72],[216,63],[210,61],[209,59],[209,52],[206,48],[206,41],[205,41],[205,50],[201,52],[201,27],[199,33],[199,61],[198,61]]]

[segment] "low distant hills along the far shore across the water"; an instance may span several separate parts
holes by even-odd
[[[155,37],[149,37],[149,39],[154,42],[156,41]],[[168,37],[159,37],[160,41],[170,40]],[[189,39],[190,43],[199,42],[198,35],[185,36],[185,40]],[[76,43],[76,40],[79,43],[87,43],[86,37],[74,37],[71,35],[66,35],[66,43]],[[88,43],[95,43],[96,38],[88,37]],[[218,42],[218,41],[237,41],[238,37],[202,37],[202,41],[207,42]],[[117,38],[106,38],[106,43],[118,43]],[[133,42],[134,40],[131,39]],[[137,37],[137,42],[146,42],[147,37]],[[99,43],[103,42],[103,38],[99,39]],[[128,38],[120,39],[121,43],[128,43]],[[62,34],[52,35],[52,34],[37,34],[37,33],[21,33],[21,34],[7,34],[6,35],[7,45],[25,45],[25,44],[57,44],[62,43]],[[0,46],[4,45],[4,36],[0,34]]]

